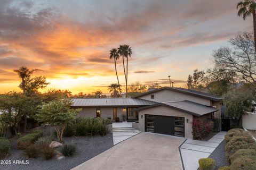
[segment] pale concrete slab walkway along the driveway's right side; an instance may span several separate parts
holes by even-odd
[[[207,158],[223,141],[226,132],[219,132],[209,141],[199,141],[187,139],[181,146],[181,156],[185,170],[195,170],[198,168],[198,160]]]

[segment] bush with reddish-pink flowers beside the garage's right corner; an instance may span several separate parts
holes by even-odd
[[[205,137],[208,137],[212,131],[212,124],[203,122],[200,120],[193,120],[192,123],[192,134],[194,139],[202,140]]]

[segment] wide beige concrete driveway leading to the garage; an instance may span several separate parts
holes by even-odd
[[[179,146],[185,138],[142,132],[73,170],[177,169],[182,170]]]

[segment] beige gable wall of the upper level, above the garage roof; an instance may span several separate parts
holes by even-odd
[[[151,95],[155,95],[155,98],[151,99]],[[201,97],[183,94],[181,92],[171,91],[167,89],[156,91],[138,98],[156,102],[189,100],[202,105],[211,106],[211,100],[209,99],[204,99]]]

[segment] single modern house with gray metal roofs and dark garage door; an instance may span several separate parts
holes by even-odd
[[[222,98],[184,88],[163,87],[134,98],[74,98],[81,116],[133,121],[140,131],[193,138],[193,120],[221,118]],[[221,126],[221,125],[220,125]]]

